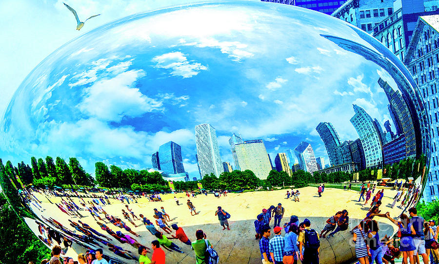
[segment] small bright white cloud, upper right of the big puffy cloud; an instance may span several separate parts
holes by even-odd
[[[183,78],[190,78],[200,73],[201,70],[207,70],[206,66],[201,63],[188,61],[186,56],[180,51],[165,53],[153,58],[156,62],[156,67],[171,69],[171,74],[174,76],[181,76]]]

